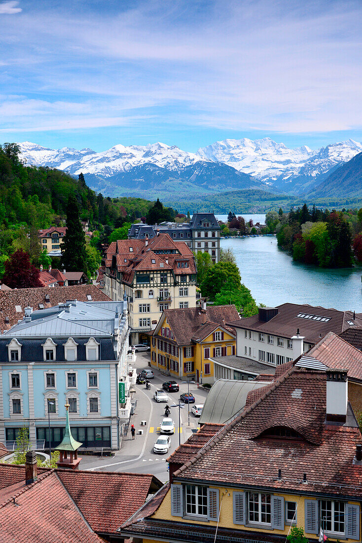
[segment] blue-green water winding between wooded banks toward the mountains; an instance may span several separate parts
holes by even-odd
[[[243,216],[265,220],[265,215]],[[362,267],[323,269],[294,262],[278,249],[274,236],[221,239],[220,247],[233,250],[242,282],[258,304],[294,302],[362,312]]]

